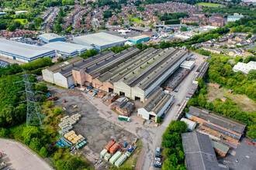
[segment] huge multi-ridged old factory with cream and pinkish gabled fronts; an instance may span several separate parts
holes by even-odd
[[[149,48],[140,53],[140,49],[130,47],[117,54],[106,51],[60,70],[54,69],[51,75],[62,75],[58,77],[63,80],[54,80],[61,87],[92,84],[100,90],[114,91],[144,102],[156,87],[175,72],[187,55],[184,49]],[[47,70],[50,71],[51,67]],[[43,73],[43,78],[47,75]]]

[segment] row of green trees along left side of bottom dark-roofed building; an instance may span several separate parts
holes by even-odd
[[[185,155],[182,147],[182,133],[187,131],[184,121],[171,121],[163,134],[162,147],[164,156],[167,158],[162,166],[163,170],[186,169]]]

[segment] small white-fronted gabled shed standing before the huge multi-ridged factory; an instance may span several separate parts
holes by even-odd
[[[161,117],[169,109],[174,96],[169,93],[164,93],[162,90],[156,90],[150,95],[144,106],[138,109],[138,117],[146,120],[157,122],[157,117]]]

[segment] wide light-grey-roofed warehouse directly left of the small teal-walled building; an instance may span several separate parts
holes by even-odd
[[[127,39],[119,36],[113,36],[105,32],[89,34],[86,36],[77,36],[74,37],[73,40],[75,43],[85,46],[92,46],[98,50],[109,49],[112,46],[123,46],[124,42],[127,41]]]

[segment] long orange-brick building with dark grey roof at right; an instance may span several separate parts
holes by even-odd
[[[189,112],[185,114],[185,117],[199,122],[202,129],[234,143],[239,142],[246,127],[246,124],[240,121],[192,106],[189,107]]]

